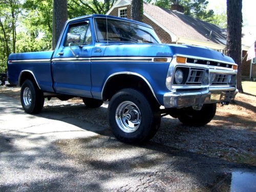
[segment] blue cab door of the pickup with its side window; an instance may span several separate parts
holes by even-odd
[[[67,35],[53,56],[52,75],[57,93],[92,97],[91,95],[91,54],[93,45],[89,20],[69,24],[65,34],[80,35],[80,41],[69,43]],[[62,44],[62,45],[61,45]],[[73,53],[72,53],[72,50]]]

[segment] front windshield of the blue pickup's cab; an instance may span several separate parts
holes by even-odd
[[[153,29],[122,20],[108,19],[108,33],[106,33],[106,18],[96,18],[95,29],[98,41],[125,41],[154,44],[160,42]]]

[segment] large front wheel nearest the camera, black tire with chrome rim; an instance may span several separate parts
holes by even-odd
[[[135,144],[150,140],[159,129],[160,109],[151,105],[142,93],[134,89],[123,89],[117,92],[111,98],[108,110],[113,134],[125,143]],[[127,118],[128,114],[131,121],[128,120],[129,117]],[[134,129],[130,128],[129,122],[134,123]]]

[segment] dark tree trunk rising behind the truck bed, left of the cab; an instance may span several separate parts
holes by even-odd
[[[67,0],[53,1],[53,16],[52,16],[52,49],[54,50],[62,28],[68,20]]]

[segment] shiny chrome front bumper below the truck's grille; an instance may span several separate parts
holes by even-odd
[[[236,88],[209,88],[199,92],[169,92],[163,96],[165,108],[184,108],[197,106],[201,109],[203,104],[229,102],[234,99],[238,90]]]

